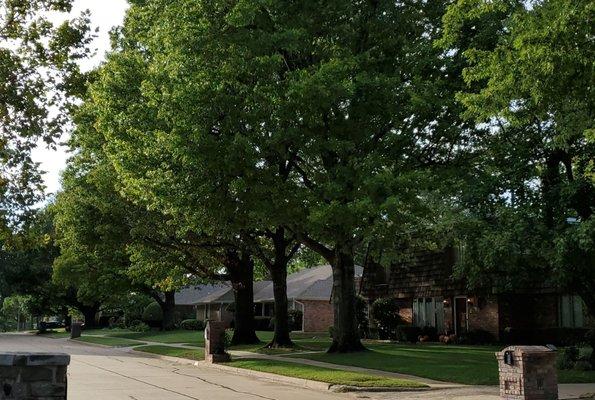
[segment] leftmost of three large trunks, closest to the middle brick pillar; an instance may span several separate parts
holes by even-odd
[[[227,255],[227,270],[235,300],[231,344],[260,343],[254,331],[254,262],[245,253],[231,251]]]

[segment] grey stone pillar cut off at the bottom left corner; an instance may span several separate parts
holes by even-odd
[[[68,354],[0,353],[0,400],[65,400]]]

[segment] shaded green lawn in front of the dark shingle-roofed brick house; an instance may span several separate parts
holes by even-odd
[[[371,350],[355,354],[302,354],[306,358],[333,364],[399,372],[469,385],[497,385],[498,364],[493,346],[446,346],[439,344],[367,344]],[[595,371],[560,371],[560,383],[595,382]]]

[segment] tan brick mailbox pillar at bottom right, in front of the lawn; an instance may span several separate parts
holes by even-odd
[[[558,400],[556,352],[543,346],[511,346],[496,353],[500,397]]]

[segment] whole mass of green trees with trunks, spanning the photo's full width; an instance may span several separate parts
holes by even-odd
[[[147,295],[169,329],[175,290],[224,279],[232,341],[253,343],[257,276],[275,300],[257,322],[291,346],[287,273],[325,260],[330,351],[350,352],[367,331],[356,262],[458,245],[470,288],[555,286],[595,315],[592,1],[130,3],[85,77],[85,18],[43,19],[68,1],[0,3],[6,221],[37,200],[31,148],[74,121],[55,204],[3,230],[2,296],[93,319]],[[396,309],[372,317],[412,337]]]

